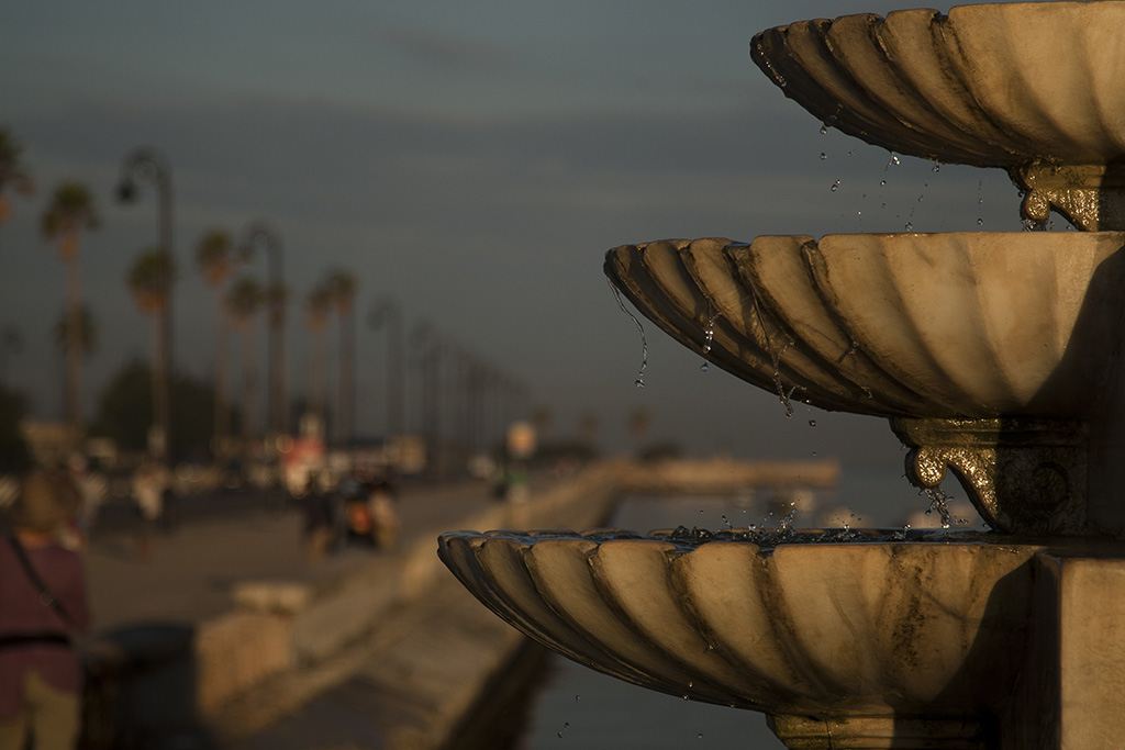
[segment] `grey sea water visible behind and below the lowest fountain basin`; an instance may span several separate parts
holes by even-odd
[[[795,514],[798,527],[818,526],[826,509],[850,518],[854,527],[901,527],[929,500],[886,464],[845,467],[840,486],[816,490]],[[710,531],[777,526],[785,496],[768,491],[731,497],[637,497],[618,506],[612,525],[650,531],[677,526]],[[978,526],[979,527],[979,526]],[[551,654],[536,685],[514,750],[784,750],[753,711],[685,701],[604,676]]]

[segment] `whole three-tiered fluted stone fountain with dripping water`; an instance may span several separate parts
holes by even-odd
[[[825,124],[1002,168],[1027,220],[1083,232],[664,241],[606,273],[736,376],[888,417],[993,531],[460,532],[442,559],[556,651],[790,748],[1119,750],[1125,2],[804,21],[752,55]]]

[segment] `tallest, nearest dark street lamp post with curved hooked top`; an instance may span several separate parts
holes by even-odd
[[[117,184],[117,199],[123,204],[132,204],[136,200],[138,183],[147,182],[156,188],[158,206],[156,219],[160,227],[160,251],[165,253],[169,262],[164,264],[171,273],[174,263],[174,252],[172,249],[172,170],[168,161],[154,148],[141,147],[130,151],[122,163],[122,175]],[[163,284],[168,293],[166,308],[164,310],[163,343],[158,355],[158,367],[161,370],[156,382],[156,392],[153,394],[153,435],[151,437],[150,450],[161,462],[166,463],[170,453],[170,439],[172,433],[171,418],[171,396],[170,381],[173,356],[173,325],[172,325],[172,280],[165,279]]]

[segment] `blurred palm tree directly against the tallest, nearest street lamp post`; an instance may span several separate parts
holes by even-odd
[[[125,278],[133,300],[145,315],[152,316],[152,395],[153,427],[151,450],[159,461],[165,461],[170,454],[169,435],[171,404],[169,399],[168,373],[164,363],[168,362],[168,336],[165,335],[164,316],[168,315],[169,301],[172,298],[172,284],[176,282],[176,261],[161,250],[148,250],[140,255],[129,268]]]

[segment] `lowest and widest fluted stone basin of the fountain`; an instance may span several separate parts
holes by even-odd
[[[592,532],[458,532],[439,548],[501,617],[649,688],[775,715],[970,719],[1009,693],[1034,550]]]

